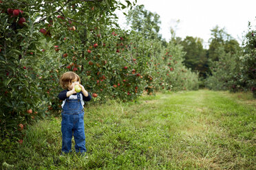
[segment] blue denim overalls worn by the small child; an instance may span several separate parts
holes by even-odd
[[[85,127],[83,122],[84,110],[81,104],[80,93],[76,93],[77,99],[67,98],[61,112],[62,149],[64,153],[72,151],[72,135],[74,135],[76,152],[84,154],[85,148]]]

